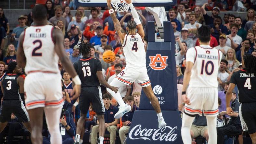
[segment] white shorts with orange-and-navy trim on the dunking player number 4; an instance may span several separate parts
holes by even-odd
[[[127,71],[127,69],[123,69],[116,77],[120,82],[131,85],[133,82],[138,83],[141,87],[149,86],[150,80],[147,75],[147,69],[143,72],[135,73],[131,71]]]

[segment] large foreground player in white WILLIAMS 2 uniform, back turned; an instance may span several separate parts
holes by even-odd
[[[63,45],[63,34],[52,25],[47,25],[45,6],[32,9],[35,25],[25,29],[19,37],[17,62],[25,67],[24,81],[26,107],[28,109],[33,144],[42,144],[43,112],[51,134],[52,144],[61,144],[59,118],[62,109],[61,75],[58,69],[60,59],[65,70],[72,77],[75,95],[80,94],[81,81],[75,72]]]

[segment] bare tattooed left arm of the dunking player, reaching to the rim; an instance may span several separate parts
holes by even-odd
[[[112,6],[111,6],[110,2],[111,2],[111,0],[107,0],[108,8],[112,9]],[[121,43],[123,44],[123,40],[124,40],[124,36],[126,34],[126,31],[124,29],[122,29],[122,26],[121,26],[119,20],[116,18],[115,13],[110,14],[110,16],[113,20],[115,30],[118,33],[119,37],[120,37]]]

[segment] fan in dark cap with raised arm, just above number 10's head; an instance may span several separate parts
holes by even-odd
[[[206,10],[205,10],[205,6],[208,6],[208,3],[205,3],[202,6],[201,11],[204,16],[205,24],[210,25],[213,23],[214,17],[219,15],[220,8],[217,6],[213,7],[212,11],[211,11],[211,16],[208,16],[208,14],[206,13]]]

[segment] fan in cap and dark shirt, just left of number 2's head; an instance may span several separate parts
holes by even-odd
[[[19,26],[14,28],[12,31],[11,39],[10,39],[11,42],[13,42],[14,40],[19,41],[20,34],[24,31],[25,28],[28,27],[26,26],[26,19],[24,15],[19,16],[18,22],[19,22]],[[15,47],[17,47],[17,45],[15,45]]]

